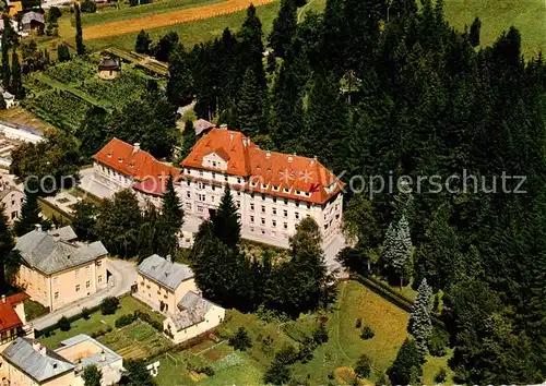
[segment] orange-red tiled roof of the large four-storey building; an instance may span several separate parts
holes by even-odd
[[[202,165],[203,157],[212,153],[227,161],[227,170]],[[203,136],[182,161],[182,166],[242,177],[256,182],[253,186],[247,185],[247,190],[312,203],[328,202],[343,186],[317,159],[268,152],[259,148],[242,133],[223,129],[213,129]],[[262,184],[266,188],[262,188]],[[329,186],[332,189],[327,191]],[[289,192],[285,192],[285,188],[289,188]],[[310,195],[306,196],[305,193]]]

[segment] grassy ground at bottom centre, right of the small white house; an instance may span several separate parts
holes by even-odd
[[[353,384],[352,367],[363,353],[368,354],[373,362],[372,375],[366,384],[373,383],[378,372],[384,372],[396,357],[407,336],[410,319],[405,311],[356,281],[340,285],[334,310],[322,316],[328,318],[329,341],[316,349],[311,361],[292,366],[296,379],[308,379],[311,385]],[[363,319],[363,326],[369,325],[373,329],[376,336],[372,339],[360,338],[361,328],[355,327],[357,318]],[[235,352],[226,341],[204,341],[182,352],[169,353],[174,358],[162,354],[151,361],[161,361],[157,381],[162,386],[262,384],[263,373],[274,353],[285,345],[297,348],[298,341],[310,336],[318,325],[316,314],[288,323],[265,323],[256,314],[241,314],[230,310],[218,333],[229,336],[244,326],[252,340],[252,347],[248,351]],[[210,365],[214,375],[207,377],[188,372],[187,363],[194,362]],[[434,384],[435,375],[440,367],[447,367],[446,363],[447,357],[427,358],[423,367],[423,383]]]

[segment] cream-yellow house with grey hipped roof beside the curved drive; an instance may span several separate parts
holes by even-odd
[[[79,242],[71,227],[44,231],[36,226],[15,249],[23,257],[17,286],[51,311],[107,287],[108,251],[99,241]]]

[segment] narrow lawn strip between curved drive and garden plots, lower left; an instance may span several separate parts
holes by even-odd
[[[108,326],[115,328],[116,319],[124,314],[131,314],[134,311],[140,310],[143,312],[147,312],[153,315],[158,321],[163,321],[162,316],[153,313],[149,307],[146,307],[143,303],[139,302],[132,297],[123,297],[120,299],[120,307],[114,315],[103,315],[100,311],[97,311],[91,315],[91,317],[85,321],[84,318],[78,319],[72,323],[70,330],[61,331],[60,329],[56,329],[51,333],[49,337],[40,337],[41,342],[49,347],[50,349],[55,349],[59,346],[64,339],[68,339],[78,334],[87,334],[91,335],[98,330],[105,330]],[[152,327],[150,327],[152,328]],[[112,331],[114,334],[116,331]]]

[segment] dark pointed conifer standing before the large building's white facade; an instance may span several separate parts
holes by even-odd
[[[228,248],[236,251],[240,239],[240,221],[237,206],[226,184],[217,210],[211,217],[214,234]]]

